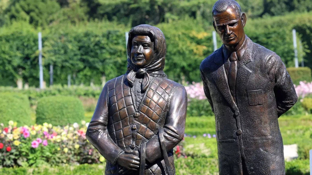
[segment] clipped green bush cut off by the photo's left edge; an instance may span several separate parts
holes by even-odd
[[[17,125],[30,125],[30,105],[21,93],[0,93],[0,123],[16,121]]]

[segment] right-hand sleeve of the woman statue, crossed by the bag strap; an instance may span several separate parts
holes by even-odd
[[[183,86],[177,87],[170,100],[168,113],[163,126],[163,137],[167,152],[173,149],[184,137],[188,96]],[[159,136],[156,135],[145,144],[146,160],[153,163],[162,157]]]

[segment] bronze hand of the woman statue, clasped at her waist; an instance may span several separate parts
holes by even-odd
[[[132,154],[121,153],[117,158],[117,163],[129,170],[139,170],[140,158]]]

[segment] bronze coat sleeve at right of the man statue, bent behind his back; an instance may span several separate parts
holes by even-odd
[[[270,72],[273,73],[275,86],[274,94],[276,99],[277,116],[280,117],[288,111],[298,100],[297,93],[291,78],[286,70],[285,64],[277,54],[274,54],[269,61]]]

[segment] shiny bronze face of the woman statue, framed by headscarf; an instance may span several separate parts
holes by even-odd
[[[149,36],[137,35],[132,39],[131,62],[143,68],[151,63],[154,55],[154,43]]]

